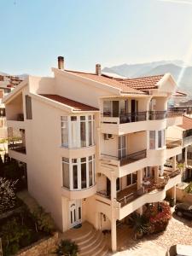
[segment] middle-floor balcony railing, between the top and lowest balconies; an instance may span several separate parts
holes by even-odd
[[[108,159],[118,160],[120,163],[120,166],[125,166],[125,165],[131,164],[133,162],[136,162],[137,160],[142,160],[142,159],[146,158],[147,157],[147,149],[144,149],[144,150],[132,153],[132,154],[127,154],[122,157],[116,157],[116,156],[109,155],[109,154],[102,154],[102,156],[104,156]]]

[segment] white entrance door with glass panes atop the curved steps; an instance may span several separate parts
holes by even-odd
[[[69,202],[69,225],[71,228],[81,223],[82,206],[81,200]]]

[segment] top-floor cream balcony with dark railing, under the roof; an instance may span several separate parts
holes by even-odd
[[[105,112],[101,118],[102,133],[121,135],[137,131],[166,129],[167,126],[182,125],[183,113],[176,111],[148,111],[135,113]],[[136,125],[142,122],[141,125]]]

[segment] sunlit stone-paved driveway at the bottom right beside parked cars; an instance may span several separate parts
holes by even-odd
[[[126,240],[126,244],[120,244],[121,252],[114,253],[115,256],[163,256],[166,249],[173,244],[192,245],[192,222],[179,218],[172,214],[166,231],[156,235],[145,236],[142,240],[134,241],[131,236]]]

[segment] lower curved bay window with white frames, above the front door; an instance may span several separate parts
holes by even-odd
[[[95,155],[84,158],[62,158],[63,187],[70,190],[86,189],[95,184]]]

